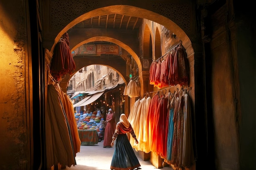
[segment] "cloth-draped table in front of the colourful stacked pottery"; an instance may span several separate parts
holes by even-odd
[[[98,144],[99,137],[97,130],[78,130],[81,145]]]

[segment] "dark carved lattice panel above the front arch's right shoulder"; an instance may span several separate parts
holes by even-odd
[[[191,25],[191,4],[189,3],[159,3],[155,2],[152,4],[153,9],[156,13],[163,15],[177,25],[182,27],[184,31],[190,31]]]

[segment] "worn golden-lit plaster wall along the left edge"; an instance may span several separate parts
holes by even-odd
[[[1,170],[25,170],[30,159],[25,90],[27,57],[25,5],[26,2],[15,0],[0,3]]]

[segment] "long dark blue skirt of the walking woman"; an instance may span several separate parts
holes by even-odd
[[[111,161],[112,170],[133,170],[141,166],[126,134],[117,136]]]

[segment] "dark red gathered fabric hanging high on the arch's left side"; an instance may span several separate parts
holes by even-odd
[[[69,35],[65,33],[54,48],[50,73],[54,79],[60,81],[65,74],[72,74],[76,65],[69,47]]]

